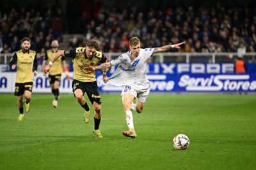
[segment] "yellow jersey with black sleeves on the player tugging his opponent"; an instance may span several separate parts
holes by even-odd
[[[79,47],[74,50],[65,50],[64,55],[65,57],[71,57],[73,59],[74,79],[84,82],[96,81],[95,71],[84,73],[84,68],[88,66],[97,66],[98,63],[104,63],[107,58],[102,52],[96,51],[93,54],[93,57],[89,59],[86,56],[85,50],[85,47]]]

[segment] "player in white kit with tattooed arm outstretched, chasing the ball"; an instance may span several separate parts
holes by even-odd
[[[129,52],[123,53],[117,59],[106,62],[100,66],[90,67],[88,69],[106,69],[118,65],[110,78],[105,77],[104,82],[108,82],[123,87],[122,101],[124,105],[125,120],[129,131],[123,131],[124,136],[136,138],[134,130],[132,111],[141,113],[147,96],[150,92],[150,82],[147,78],[147,59],[153,53],[166,52],[171,48],[180,48],[185,42],[175,45],[164,45],[159,48],[140,48],[140,39],[133,37],[129,40]],[[132,101],[136,97],[136,104]]]

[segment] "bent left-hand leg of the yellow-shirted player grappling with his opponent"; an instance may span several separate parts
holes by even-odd
[[[84,108],[84,122],[88,124],[90,122],[90,108],[84,99],[84,94],[81,89],[76,89],[74,92],[77,102]]]

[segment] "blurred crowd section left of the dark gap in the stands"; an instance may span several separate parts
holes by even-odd
[[[13,4],[14,5],[14,4]],[[0,12],[0,52],[20,50],[20,40],[31,39],[31,49],[44,53],[51,48],[52,39],[61,40],[62,11],[58,4],[46,6],[22,6]]]

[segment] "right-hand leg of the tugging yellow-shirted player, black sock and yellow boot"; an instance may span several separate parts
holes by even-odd
[[[101,106],[97,102],[93,102],[94,108],[94,129],[93,133],[96,135],[97,138],[102,138],[102,134],[99,130],[100,120],[101,120]]]

